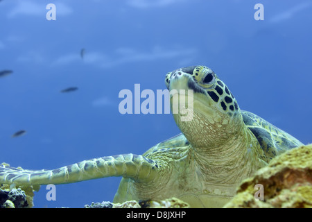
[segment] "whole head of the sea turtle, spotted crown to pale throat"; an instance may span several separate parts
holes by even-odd
[[[218,76],[205,66],[192,66],[176,69],[166,74],[166,87],[170,92],[171,109],[175,94],[179,100],[182,94],[193,96],[184,108],[189,106],[189,121],[181,120],[181,111],[173,112],[177,126],[192,146],[218,146],[235,136],[243,127],[243,118],[233,94]],[[191,89],[191,90],[189,90]],[[192,92],[192,93],[187,93]],[[181,101],[179,101],[181,103]],[[191,104],[193,103],[193,104]],[[180,109],[183,109],[183,105]],[[185,110],[184,110],[185,111]],[[184,112],[185,113],[185,112]]]

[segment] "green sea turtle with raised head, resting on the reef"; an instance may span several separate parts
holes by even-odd
[[[208,67],[176,69],[166,74],[165,83],[174,92],[171,109],[174,98],[180,102],[180,110],[173,112],[180,135],[143,155],[100,157],[41,171],[3,165],[0,184],[56,185],[122,176],[114,203],[176,197],[191,207],[222,207],[244,178],[276,155],[302,145],[256,114],[240,110],[225,83]],[[182,120],[186,111],[191,118]]]

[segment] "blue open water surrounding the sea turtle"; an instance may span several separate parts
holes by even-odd
[[[0,78],[0,162],[55,169],[144,153],[180,131],[171,114],[120,114],[119,92],[165,89],[166,73],[189,65],[213,69],[242,110],[312,142],[311,10],[309,0],[0,1],[0,71],[14,71]],[[112,201],[120,179],[58,185],[55,201],[42,186],[35,207]]]

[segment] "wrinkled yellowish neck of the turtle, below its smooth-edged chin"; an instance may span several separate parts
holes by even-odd
[[[257,141],[239,135],[229,139],[223,146],[194,148],[193,157],[206,181],[235,184],[252,176],[260,167],[264,167],[263,162],[259,162],[257,149]]]

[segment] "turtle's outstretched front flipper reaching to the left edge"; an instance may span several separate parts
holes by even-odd
[[[53,170],[24,170],[3,164],[0,184],[58,185],[110,176],[148,182],[155,179],[157,169],[157,162],[132,153],[85,160]]]

